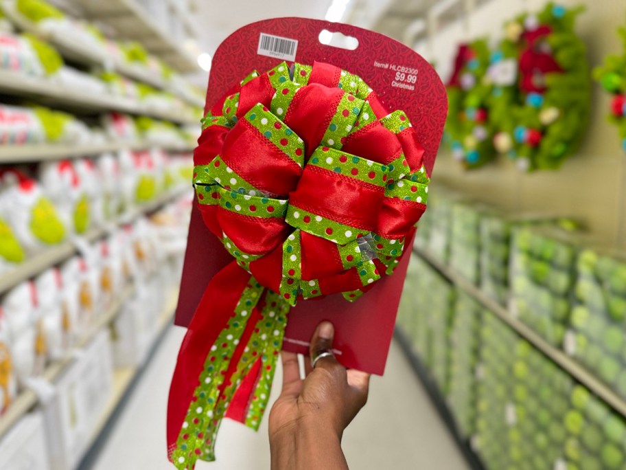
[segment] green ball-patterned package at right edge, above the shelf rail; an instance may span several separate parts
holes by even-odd
[[[564,348],[626,399],[626,255],[583,249]]]

